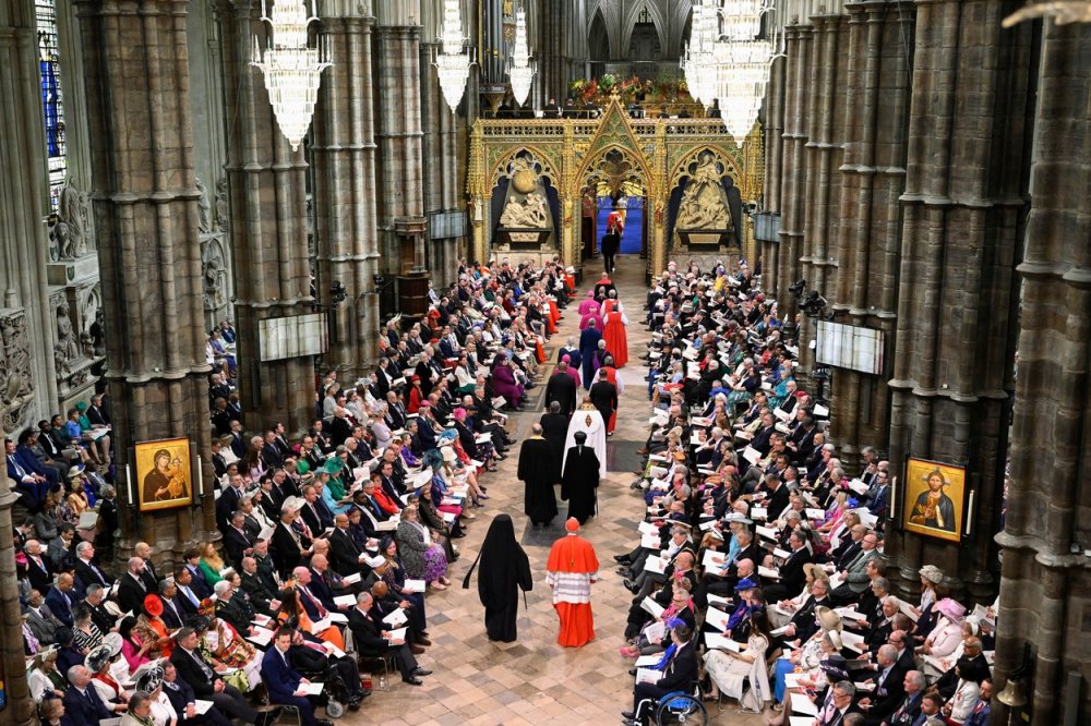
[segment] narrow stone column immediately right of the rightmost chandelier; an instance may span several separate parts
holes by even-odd
[[[780,251],[774,294],[788,320],[799,311],[788,287],[800,279],[803,255],[803,201],[806,181],[804,147],[807,143],[806,89],[810,83],[811,37],[814,28],[798,20],[784,28],[784,133],[781,178]],[[802,350],[800,351],[803,352]]]

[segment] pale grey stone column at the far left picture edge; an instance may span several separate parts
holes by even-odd
[[[0,390],[0,421],[13,432],[58,402],[37,37],[32,0],[0,3],[0,370],[15,374]]]

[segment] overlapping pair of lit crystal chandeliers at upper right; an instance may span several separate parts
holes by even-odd
[[[782,36],[760,39],[763,16],[775,0],[700,0],[693,9],[690,45],[683,59],[686,84],[706,106],[716,99],[720,118],[736,144],[754,128],[762,110],[769,65],[783,55]]]

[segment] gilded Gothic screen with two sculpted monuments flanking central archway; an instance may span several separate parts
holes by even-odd
[[[598,242],[598,199],[609,195],[639,205],[648,274],[668,256],[703,266],[756,259],[748,209],[760,204],[764,164],[759,123],[740,146],[719,119],[633,119],[618,97],[596,119],[478,119],[471,257],[560,256],[578,270]]]

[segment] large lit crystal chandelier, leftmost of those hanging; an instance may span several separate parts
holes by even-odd
[[[311,48],[307,44],[307,29],[317,20],[314,0],[311,0],[310,16],[302,0],[274,0],[272,17],[266,11],[265,0],[262,0],[261,22],[269,24],[264,53],[257,44],[257,36],[254,36],[250,64],[256,65],[265,75],[269,104],[292,152],[299,150],[299,144],[311,126],[322,71],[332,65],[328,48],[321,36],[316,47]]]

